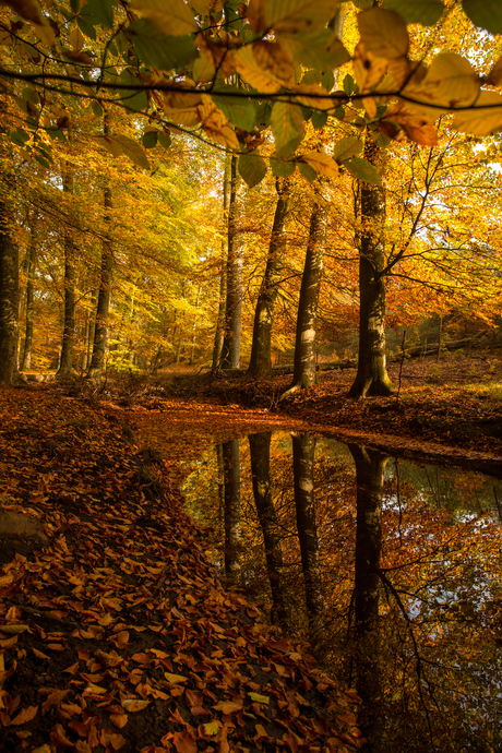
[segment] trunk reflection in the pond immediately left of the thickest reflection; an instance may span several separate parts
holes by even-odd
[[[314,457],[315,438],[308,434],[292,434],[295,506],[306,586],[309,636],[312,652],[319,656],[319,643],[323,633],[324,597],[315,523]]]

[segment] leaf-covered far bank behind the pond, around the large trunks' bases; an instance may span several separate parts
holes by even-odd
[[[359,441],[391,454],[502,475],[500,347],[446,354],[439,362],[435,357],[393,362],[389,372],[394,395],[361,402],[347,397],[356,370],[337,368],[319,371],[319,384],[284,402],[279,398],[291,383],[290,375],[255,382],[235,373],[189,374],[182,368],[159,374],[148,386],[131,382],[123,394],[129,394],[125,403],[154,413],[190,402],[195,413],[196,402],[203,414],[216,410],[216,404],[219,410],[225,408],[229,427],[232,411],[236,418],[240,415],[239,406],[254,408],[262,420],[268,417],[272,429],[274,422],[289,421],[291,428],[301,422],[303,430]]]

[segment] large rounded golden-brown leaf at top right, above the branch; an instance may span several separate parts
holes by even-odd
[[[398,13],[385,8],[370,8],[358,14],[357,23],[361,41],[368,52],[385,60],[407,55],[408,32]]]

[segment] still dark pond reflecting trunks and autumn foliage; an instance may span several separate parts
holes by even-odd
[[[369,750],[502,750],[501,481],[263,432],[183,493],[222,578],[357,688]]]

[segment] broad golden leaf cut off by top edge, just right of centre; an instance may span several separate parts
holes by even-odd
[[[324,28],[333,19],[337,0],[250,0],[248,21],[253,32],[302,34]]]

